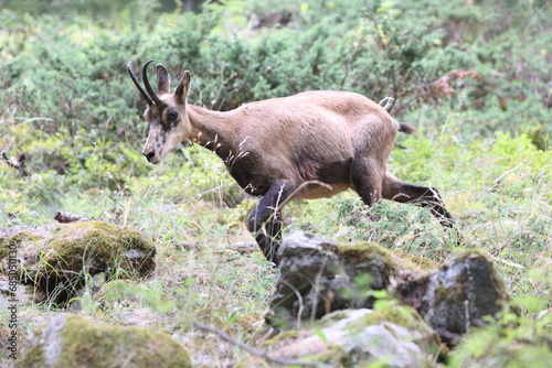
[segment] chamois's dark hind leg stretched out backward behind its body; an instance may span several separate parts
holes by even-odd
[[[455,225],[453,216],[445,208],[439,192],[435,187],[414,185],[400,181],[390,173],[383,177],[383,198],[400,203],[413,203],[418,206],[428,207],[433,216],[437,217],[444,227]]]

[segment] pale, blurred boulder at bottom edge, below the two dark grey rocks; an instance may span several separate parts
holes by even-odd
[[[407,306],[333,312],[310,328],[282,333],[264,345],[268,356],[328,367],[429,367],[440,351],[438,336]],[[255,359],[235,367],[263,366]]]

